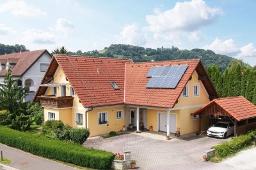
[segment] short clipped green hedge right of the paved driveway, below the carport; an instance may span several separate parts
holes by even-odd
[[[228,155],[232,155],[234,153],[239,152],[244,147],[252,144],[252,141],[255,139],[256,131],[248,132],[247,134],[238,136],[231,141],[226,141],[225,143],[221,143],[220,145],[213,146],[215,149],[216,155],[219,158],[223,159]]]

